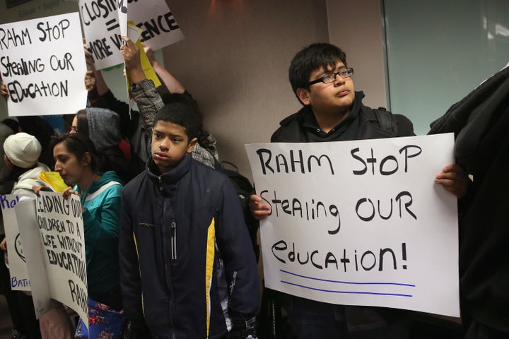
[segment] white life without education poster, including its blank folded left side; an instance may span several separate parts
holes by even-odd
[[[18,203],[16,216],[27,254],[36,312],[57,299],[88,321],[87,271],[81,202],[61,193],[40,192],[33,203]],[[38,232],[37,232],[38,230]]]

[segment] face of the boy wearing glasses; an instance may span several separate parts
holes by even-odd
[[[317,69],[310,75],[309,81],[321,78],[324,73],[337,72],[341,69],[346,69],[343,62],[338,61],[336,68],[332,69]],[[355,90],[353,88],[352,78],[341,78],[336,76],[332,83],[315,83],[310,85],[309,90],[300,88],[300,100],[304,105],[311,105],[315,113],[336,113],[336,112],[349,112],[353,99],[355,97]]]

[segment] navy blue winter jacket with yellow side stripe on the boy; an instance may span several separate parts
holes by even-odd
[[[186,155],[145,172],[122,194],[119,257],[124,314],[158,338],[223,338],[259,304],[257,266],[229,179]]]

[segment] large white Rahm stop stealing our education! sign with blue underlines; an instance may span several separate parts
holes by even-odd
[[[460,316],[457,200],[435,184],[452,134],[246,145],[267,287]]]

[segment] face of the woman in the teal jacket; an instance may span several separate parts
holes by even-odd
[[[78,160],[74,153],[70,153],[64,143],[57,143],[53,148],[55,171],[69,186],[78,184],[86,169],[86,160]]]

